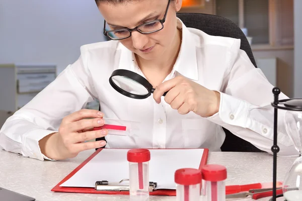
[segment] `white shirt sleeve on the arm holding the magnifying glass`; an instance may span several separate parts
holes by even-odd
[[[209,117],[234,135],[272,154],[274,134],[273,85],[255,68],[245,51],[232,47],[230,68],[220,93],[219,112]],[[279,99],[288,98],[280,93]],[[286,111],[278,110],[278,156],[298,156],[285,128]]]

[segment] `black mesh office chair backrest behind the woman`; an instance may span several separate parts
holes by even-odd
[[[251,46],[246,36],[231,20],[201,13],[177,13],[177,17],[186,27],[199,29],[208,35],[241,39],[240,49],[247,53],[251,62],[257,68]],[[225,128],[223,128],[223,130],[225,132],[225,140],[221,146],[221,151],[263,152],[246,140],[237,137],[229,130]]]

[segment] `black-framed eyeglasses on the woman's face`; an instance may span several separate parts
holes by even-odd
[[[138,31],[141,34],[150,34],[158,32],[164,28],[164,23],[166,21],[169,5],[170,0],[168,1],[168,6],[164,18],[162,20],[153,20],[142,25],[138,25],[133,29],[122,28],[106,31],[106,20],[104,20],[104,35],[108,36],[112,40],[122,40],[129,38],[131,36],[132,31]]]

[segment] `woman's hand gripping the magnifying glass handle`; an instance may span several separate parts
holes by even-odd
[[[209,90],[183,76],[167,80],[156,87],[153,97],[158,104],[166,91],[165,101],[171,108],[178,110],[179,114],[185,115],[192,111],[201,117],[210,117],[219,110],[219,92]]]

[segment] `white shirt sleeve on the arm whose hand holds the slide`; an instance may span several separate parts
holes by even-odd
[[[39,160],[39,140],[57,132],[62,119],[94,99],[90,73],[83,56],[68,65],[27,105],[7,119],[0,130],[0,148]]]

